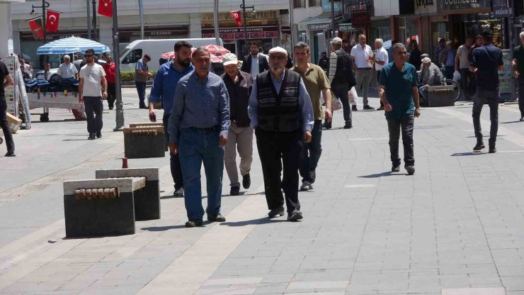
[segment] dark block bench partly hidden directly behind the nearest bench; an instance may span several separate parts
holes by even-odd
[[[158,168],[99,169],[95,171],[96,179],[114,177],[145,177],[146,184],[135,191],[135,220],[148,221],[160,219],[160,182]]]

